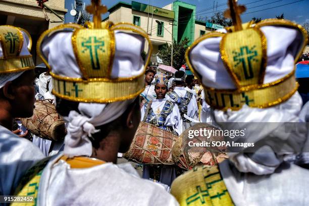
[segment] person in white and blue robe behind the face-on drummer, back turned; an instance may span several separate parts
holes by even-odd
[[[195,96],[187,91],[185,85],[184,71],[177,71],[175,73],[175,88],[174,91],[168,92],[167,95],[177,102],[183,121],[183,130],[192,126],[192,122],[198,120],[198,108]],[[180,134],[179,134],[180,135]]]

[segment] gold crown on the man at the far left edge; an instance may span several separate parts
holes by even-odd
[[[22,31],[29,38],[27,54],[24,55],[20,55],[25,40]],[[0,26],[0,44],[3,53],[0,55],[0,74],[21,72],[35,67],[30,55],[31,36],[26,30],[9,25]]]

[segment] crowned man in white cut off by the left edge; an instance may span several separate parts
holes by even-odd
[[[44,156],[11,132],[15,118],[33,114],[31,37],[21,28],[0,26],[0,45],[0,195],[12,195],[24,173]]]

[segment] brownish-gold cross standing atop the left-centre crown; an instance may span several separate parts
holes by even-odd
[[[101,0],[91,0],[91,5],[86,7],[89,14],[93,14],[93,27],[95,29],[101,28],[101,14],[107,13],[108,9],[105,5],[100,5]]]

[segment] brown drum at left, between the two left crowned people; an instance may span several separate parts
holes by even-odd
[[[23,125],[33,134],[43,139],[61,141],[66,135],[65,122],[58,115],[50,100],[37,100],[30,118],[21,118]]]

